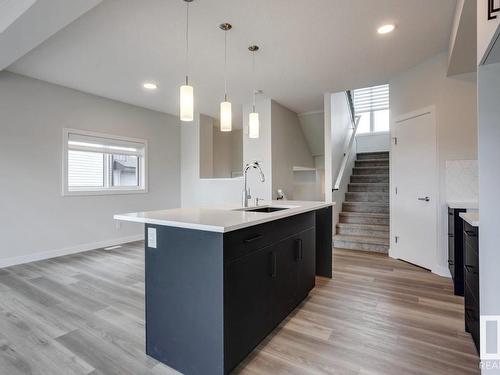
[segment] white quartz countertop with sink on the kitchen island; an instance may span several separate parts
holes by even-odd
[[[133,212],[114,215],[115,220],[144,224],[197,229],[210,232],[230,232],[300,213],[333,206],[335,203],[315,201],[266,201],[265,206],[289,207],[286,210],[267,212],[242,211],[240,206],[174,208],[169,210]]]

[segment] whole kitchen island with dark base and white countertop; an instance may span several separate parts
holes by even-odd
[[[145,224],[146,353],[186,375],[229,373],[331,277],[332,204],[115,215]]]

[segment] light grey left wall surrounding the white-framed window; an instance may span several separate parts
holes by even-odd
[[[142,236],[113,214],[180,204],[177,118],[0,73],[0,267]],[[61,196],[62,129],[149,142],[149,193]]]

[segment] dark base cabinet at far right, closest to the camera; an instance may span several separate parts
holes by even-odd
[[[479,230],[464,221],[465,331],[479,348]]]

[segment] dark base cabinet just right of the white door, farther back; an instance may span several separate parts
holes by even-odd
[[[448,268],[453,279],[453,289],[457,296],[464,295],[463,264],[463,223],[461,208],[448,208]]]

